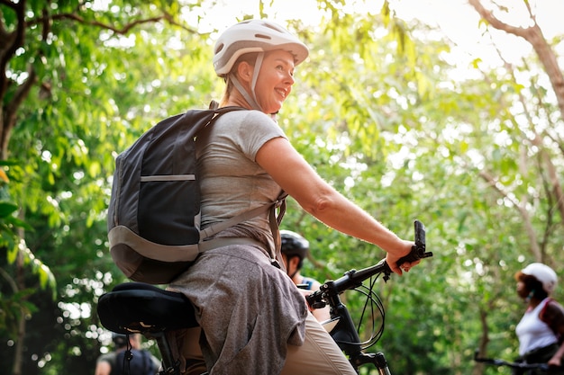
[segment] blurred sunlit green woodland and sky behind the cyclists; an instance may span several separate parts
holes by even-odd
[[[399,375],[509,373],[473,355],[517,355],[514,273],[564,270],[563,13],[557,0],[0,1],[1,372],[94,373],[112,350],[96,301],[126,281],[106,239],[114,157],[219,99],[214,40],[268,18],[311,49],[278,115],[295,147],[401,237],[427,228],[434,256],[377,282],[372,349]],[[288,206],[282,228],[310,241],[305,275],[384,256]],[[359,297],[343,296],[355,314]]]

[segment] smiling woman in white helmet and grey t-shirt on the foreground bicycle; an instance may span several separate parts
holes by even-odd
[[[413,242],[336,192],[277,125],[276,113],[295,83],[294,70],[307,56],[294,35],[263,20],[237,23],[217,40],[214,69],[226,84],[220,106],[249,111],[226,113],[198,136],[202,226],[276,201],[284,191],[327,226],[380,246],[392,271],[401,274],[396,262]],[[196,307],[207,370],[212,375],[355,375],[280,269],[279,235],[269,216],[216,235],[247,242],[205,251],[170,285]],[[415,263],[405,263],[404,271]]]

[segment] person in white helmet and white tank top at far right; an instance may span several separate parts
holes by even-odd
[[[527,309],[515,333],[519,338],[520,359],[528,363],[548,363],[550,374],[564,374],[564,310],[550,295],[558,281],[556,272],[543,263],[531,263],[515,273],[517,293]],[[545,372],[542,372],[545,373]],[[536,372],[532,372],[536,374]]]

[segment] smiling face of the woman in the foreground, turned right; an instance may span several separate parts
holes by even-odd
[[[255,94],[265,113],[276,113],[292,92],[294,85],[294,56],[282,49],[265,53],[260,66]]]

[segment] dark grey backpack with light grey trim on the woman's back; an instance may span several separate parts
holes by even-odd
[[[244,110],[217,109],[214,102],[210,108],[215,109],[190,110],[160,121],[115,160],[108,239],[114,263],[132,281],[166,284],[184,272],[200,252],[213,248],[206,246],[212,243],[205,242],[206,238],[267,210],[271,210],[271,228],[273,217],[276,224],[281,220],[282,215],[276,218],[275,211],[284,208],[282,195],[200,230],[196,135],[223,113]],[[277,233],[275,241],[276,237]]]

